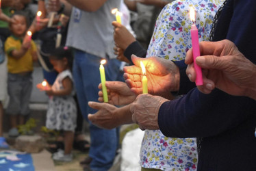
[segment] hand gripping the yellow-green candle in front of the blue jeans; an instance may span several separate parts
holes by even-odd
[[[126,83],[120,81],[106,81],[105,85],[108,92],[108,100],[112,105],[127,105],[136,99],[136,94],[131,92]],[[102,89],[101,83],[99,89]],[[99,91],[100,102],[103,102],[103,92]]]

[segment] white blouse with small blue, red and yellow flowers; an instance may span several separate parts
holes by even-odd
[[[179,0],[166,5],[155,24],[146,57],[183,60],[192,47],[190,6],[196,10],[199,41],[203,41],[208,40],[214,15],[222,3],[223,0]],[[196,138],[170,138],[159,130],[146,130],[140,150],[140,165],[161,170],[196,170]]]

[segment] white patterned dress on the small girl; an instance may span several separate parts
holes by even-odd
[[[64,70],[57,75],[52,89],[62,90],[62,80],[66,77],[70,77],[73,81],[71,71]],[[53,96],[50,98],[46,123],[48,129],[75,131],[77,123],[77,106],[73,98],[74,94],[75,92],[73,91],[66,96]]]

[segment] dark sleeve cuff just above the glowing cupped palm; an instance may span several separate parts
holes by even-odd
[[[138,57],[146,57],[146,50],[142,47],[142,45],[138,42],[132,42],[124,52],[125,57],[132,63],[131,55],[136,55]]]

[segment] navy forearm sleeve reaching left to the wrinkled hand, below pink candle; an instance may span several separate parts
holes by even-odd
[[[167,137],[210,137],[227,131],[255,114],[251,98],[230,96],[220,90],[203,94],[194,88],[159,109],[159,129]]]

